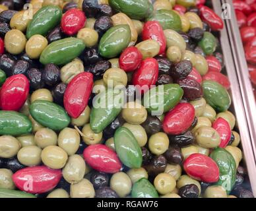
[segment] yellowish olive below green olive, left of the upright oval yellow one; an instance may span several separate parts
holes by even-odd
[[[57,134],[51,129],[42,128],[36,132],[34,140],[40,148],[54,146],[57,145]]]

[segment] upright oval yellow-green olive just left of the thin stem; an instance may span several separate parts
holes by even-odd
[[[69,156],[72,156],[79,149],[80,135],[77,130],[66,127],[59,133],[58,146],[63,148]]]

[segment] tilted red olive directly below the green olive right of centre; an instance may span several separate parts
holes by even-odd
[[[195,108],[189,103],[180,103],[166,114],[162,127],[168,135],[180,135],[191,127],[194,118]]]

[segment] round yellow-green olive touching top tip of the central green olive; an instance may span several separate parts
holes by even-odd
[[[108,87],[115,87],[117,85],[127,85],[127,75],[125,71],[120,68],[110,68],[103,75],[104,83]]]

